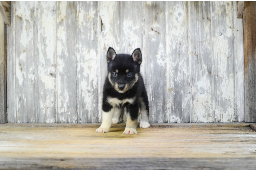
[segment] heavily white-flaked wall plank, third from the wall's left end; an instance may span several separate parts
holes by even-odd
[[[56,1],[35,2],[33,68],[28,76],[36,80],[37,123],[56,122]],[[28,113],[31,115],[32,113]],[[33,117],[33,116],[31,116]]]

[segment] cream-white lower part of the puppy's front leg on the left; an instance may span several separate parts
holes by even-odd
[[[95,132],[99,132],[99,133],[109,132],[113,114],[114,114],[114,107],[108,112],[102,111],[102,123],[100,128],[98,128]]]

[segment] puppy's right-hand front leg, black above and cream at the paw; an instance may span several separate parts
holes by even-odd
[[[139,104],[129,105],[126,107],[127,109],[127,121],[126,127],[123,134],[137,134],[137,120],[138,120],[138,113],[139,113]]]

